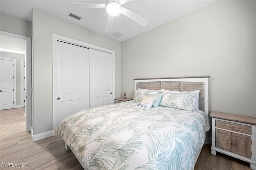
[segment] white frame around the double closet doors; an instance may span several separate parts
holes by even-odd
[[[114,104],[115,98],[115,51],[105,49],[102,47],[98,47],[96,45],[88,44],[82,41],[78,41],[75,39],[71,39],[68,37],[63,37],[61,35],[52,34],[52,106],[53,106],[53,130],[55,129],[56,125],[56,46],[57,41],[63,41],[65,43],[70,43],[73,45],[78,45],[81,47],[85,47],[88,49],[95,49],[98,51],[104,51],[106,53],[112,54],[112,103]]]

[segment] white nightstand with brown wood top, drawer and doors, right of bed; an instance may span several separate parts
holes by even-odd
[[[212,111],[212,151],[250,163],[256,170],[256,119]]]

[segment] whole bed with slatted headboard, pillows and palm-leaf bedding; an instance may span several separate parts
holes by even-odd
[[[78,111],[54,135],[86,170],[192,170],[208,142],[208,78],[134,79],[134,100]]]

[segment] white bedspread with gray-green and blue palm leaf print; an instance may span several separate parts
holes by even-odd
[[[122,102],[78,111],[54,130],[87,170],[190,170],[204,134],[203,111]]]

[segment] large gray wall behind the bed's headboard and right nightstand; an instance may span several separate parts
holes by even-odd
[[[210,111],[256,116],[256,1],[216,1],[122,42],[133,78],[210,75]]]

